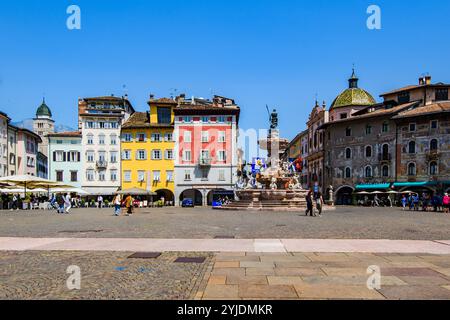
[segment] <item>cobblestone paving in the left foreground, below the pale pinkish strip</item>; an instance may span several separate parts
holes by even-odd
[[[0,299],[193,299],[212,255],[163,253],[157,259],[128,259],[133,252],[0,252]],[[178,257],[204,263],[175,263]],[[80,267],[81,288],[69,290],[66,273]]]

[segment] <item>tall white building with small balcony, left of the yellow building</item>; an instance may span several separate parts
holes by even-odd
[[[82,188],[91,195],[112,195],[121,186],[120,130],[134,113],[125,97],[83,98],[78,101],[82,132]]]

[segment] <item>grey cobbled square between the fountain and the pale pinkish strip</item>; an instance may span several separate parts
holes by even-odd
[[[0,237],[448,240],[449,230],[450,214],[399,208],[336,207],[317,218],[173,207],[142,209],[132,217],[114,217],[112,209],[0,211]]]

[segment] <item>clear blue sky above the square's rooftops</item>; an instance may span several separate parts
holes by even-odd
[[[81,8],[82,29],[66,28]],[[370,4],[382,29],[366,28]],[[317,93],[347,86],[378,95],[429,72],[450,82],[450,1],[48,0],[0,2],[0,110],[30,118],[45,93],[58,123],[76,127],[77,98],[121,95],[137,110],[150,93],[236,99],[242,128],[305,128]]]

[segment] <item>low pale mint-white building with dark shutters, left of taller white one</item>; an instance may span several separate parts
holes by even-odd
[[[48,135],[50,180],[81,187],[84,161],[81,140],[82,136],[78,131]]]

